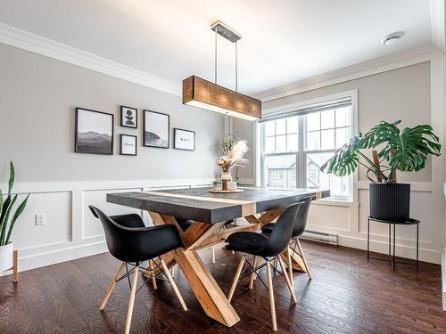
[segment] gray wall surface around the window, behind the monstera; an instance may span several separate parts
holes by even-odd
[[[366,132],[380,120],[402,119],[402,127],[431,123],[430,63],[424,62],[402,69],[394,69],[369,77],[326,86],[301,94],[263,103],[268,110],[295,102],[305,102],[318,97],[358,89],[358,130]],[[247,131],[244,121],[235,121],[235,134],[244,137],[252,147],[252,131]],[[442,130],[442,129],[439,129]],[[417,173],[399,173],[400,180],[431,181],[430,159],[424,170]],[[253,170],[245,168],[242,178],[252,179]],[[359,180],[366,180],[359,173]]]

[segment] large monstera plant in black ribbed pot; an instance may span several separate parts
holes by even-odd
[[[410,210],[410,184],[397,183],[396,171],[419,171],[429,154],[439,156],[442,149],[432,126],[401,131],[400,123],[381,121],[367,134],[359,133],[320,168],[337,176],[351,175],[359,165],[367,168],[370,216],[393,222],[406,221]],[[372,159],[361,152],[368,149]]]

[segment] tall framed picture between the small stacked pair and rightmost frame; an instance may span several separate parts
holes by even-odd
[[[143,110],[143,145],[169,149],[169,115]]]

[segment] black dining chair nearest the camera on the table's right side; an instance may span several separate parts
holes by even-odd
[[[269,294],[269,306],[271,308],[271,320],[274,331],[277,331],[277,320],[276,306],[274,302],[273,281],[271,279],[271,261],[277,258],[280,267],[282,268],[282,274],[285,278],[286,285],[288,286],[291,296],[293,297],[293,302],[294,304],[297,303],[293,286],[291,285],[290,278],[285,270],[284,261],[282,260],[280,255],[285,251],[290,243],[293,233],[294,221],[299,213],[301,206],[301,203],[295,203],[285,208],[282,215],[278,217],[277,223],[269,236],[266,236],[259,232],[235,232],[227,237],[227,249],[244,253],[235,272],[234,281],[232,282],[232,286],[229,290],[227,299],[229,300],[229,302],[231,302],[231,299],[234,296],[235,287],[237,286],[240,275],[244,270],[245,261],[248,264],[246,268],[251,268],[251,272],[244,274],[242,278],[251,275],[250,288],[252,286],[253,276],[258,275],[259,270],[263,266],[266,266],[268,278],[267,288]],[[246,254],[252,255],[252,264],[246,259]],[[265,263],[263,265],[254,265],[256,257],[263,258]]]

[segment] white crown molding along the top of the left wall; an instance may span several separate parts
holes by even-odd
[[[181,86],[179,84],[2,22],[0,22],[0,43],[12,45],[31,53],[41,54],[58,61],[68,62],[85,69],[91,69],[111,77],[118,77],[161,92],[178,96],[181,94]]]

